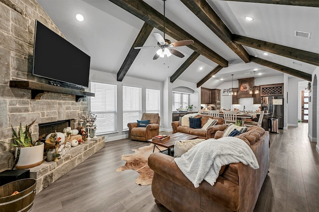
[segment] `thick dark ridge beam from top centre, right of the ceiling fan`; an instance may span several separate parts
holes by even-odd
[[[249,63],[249,54],[245,48],[232,41],[232,33],[211,8],[206,0],[180,0],[192,11],[210,30],[212,30],[233,52],[245,63]]]

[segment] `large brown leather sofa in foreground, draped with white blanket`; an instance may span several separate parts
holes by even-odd
[[[215,138],[221,135],[218,132]],[[154,170],[155,202],[172,212],[253,212],[269,169],[269,132],[252,126],[237,137],[249,143],[259,169],[242,163],[223,166],[214,186],[203,181],[195,189],[173,157],[153,153],[149,166]]]

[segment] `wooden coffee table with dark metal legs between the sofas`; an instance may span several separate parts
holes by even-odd
[[[182,133],[182,132],[177,132],[177,133],[169,135],[169,139],[165,140],[164,142],[156,142],[156,141],[152,141],[152,139],[148,140],[148,142],[154,144],[153,152],[155,150],[155,147],[159,149],[159,147],[157,147],[157,146],[162,146],[162,147],[167,148],[167,152],[168,152],[167,154],[170,155],[170,148],[172,148],[174,146],[175,141],[191,140],[191,139],[195,139],[195,138],[198,138],[198,135],[190,135],[190,134],[186,134],[186,133]],[[160,152],[162,152],[162,151],[160,150]]]

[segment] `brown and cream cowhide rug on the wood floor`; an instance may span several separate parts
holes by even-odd
[[[158,146],[160,150],[166,148]],[[121,172],[124,170],[132,169],[140,173],[140,176],[136,179],[135,183],[141,186],[149,186],[153,180],[153,170],[148,165],[148,158],[153,153],[154,144],[149,146],[142,146],[138,149],[132,149],[135,153],[129,155],[122,155],[121,159],[126,161],[126,164],[116,171]],[[159,152],[155,147],[154,152]]]

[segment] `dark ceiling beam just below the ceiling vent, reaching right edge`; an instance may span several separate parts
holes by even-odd
[[[241,35],[234,35],[233,41],[244,46],[249,46],[255,49],[319,66],[319,54],[317,53],[282,46],[279,44],[257,40]]]

